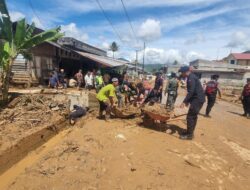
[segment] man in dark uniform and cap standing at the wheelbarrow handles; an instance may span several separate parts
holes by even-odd
[[[192,140],[198,120],[198,114],[205,102],[205,93],[198,77],[190,71],[188,66],[180,68],[182,77],[187,78],[187,95],[181,108],[189,106],[187,114],[187,131],[180,136],[182,140]]]

